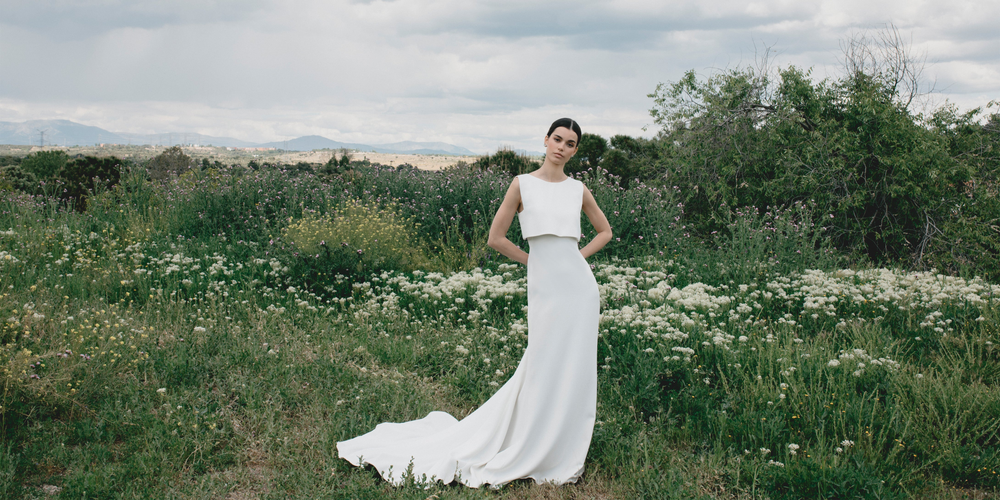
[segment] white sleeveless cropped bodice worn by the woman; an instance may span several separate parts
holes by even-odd
[[[517,214],[521,236],[528,239],[551,234],[580,241],[583,183],[573,178],[546,182],[529,174],[517,178],[524,206]]]

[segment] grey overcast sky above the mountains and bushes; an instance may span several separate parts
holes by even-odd
[[[554,119],[650,136],[685,70],[840,73],[893,23],[934,103],[1000,99],[996,0],[0,0],[0,121],[250,141],[317,134],[542,150]],[[647,127],[644,130],[644,127]]]

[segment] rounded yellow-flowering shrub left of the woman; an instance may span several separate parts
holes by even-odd
[[[417,247],[414,225],[393,204],[379,206],[356,198],[325,215],[306,215],[284,230],[297,257],[293,279],[343,294],[350,283],[370,273],[414,269],[426,260]]]

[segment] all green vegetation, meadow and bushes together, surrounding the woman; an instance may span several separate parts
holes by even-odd
[[[849,46],[840,80],[689,73],[654,93],[657,138],[581,141],[615,240],[562,488],[393,488],[335,451],[464,416],[516,367],[525,273],[485,241],[530,159],[173,151],[73,159],[59,192],[2,159],[0,496],[997,496],[1000,118],[914,114],[912,72]]]

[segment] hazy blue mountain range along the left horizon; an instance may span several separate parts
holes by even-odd
[[[314,149],[354,149],[360,152],[395,154],[444,154],[476,156],[478,153],[444,142],[394,142],[391,144],[359,144],[338,142],[318,135],[307,135],[287,141],[253,143],[232,137],[213,137],[189,132],[165,134],[132,134],[109,132],[99,127],[83,125],[69,120],[29,120],[25,122],[0,122],[0,144],[10,145],[93,146],[96,144],[180,145],[193,144],[219,147],[276,148],[286,151],[312,151]]]

